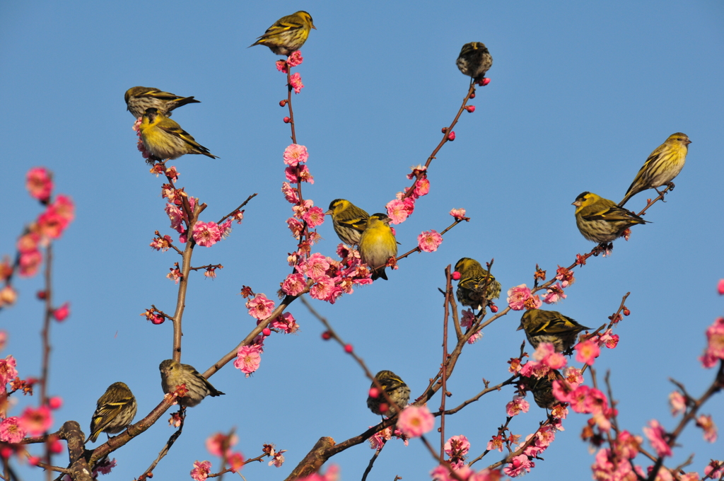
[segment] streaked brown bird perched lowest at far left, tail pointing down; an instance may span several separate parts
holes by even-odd
[[[89,440],[95,443],[101,432],[116,434],[125,430],[133,421],[137,410],[135,397],[127,385],[123,382],[109,385],[104,395],[98,398],[96,412],[90,418],[90,436],[85,443]]]

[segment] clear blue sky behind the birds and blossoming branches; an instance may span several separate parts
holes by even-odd
[[[72,306],[70,319],[53,326],[50,393],[65,399],[56,427],[76,419],[87,429],[96,399],[119,380],[138,398],[140,419],[161,400],[157,366],[171,356],[171,326],[138,316],[151,304],[172,311],[176,286],[164,276],[177,259],[148,247],[154,230],[172,231],[161,181],[148,174],[135,148],[122,101],[127,88],[153,86],[201,100],[174,120],[220,159],[184,156],[173,164],[180,185],[209,204],[203,220],[219,219],[259,193],[229,239],[196,249],[193,264],[224,269],[216,280],[191,280],[182,361],[203,371],[230,351],[254,325],[241,286],[272,298],[289,272],[291,211],[279,192],[282,151],[290,143],[278,106],[285,78],[274,68],[277,56],[246,47],[298,9],[310,12],[318,29],[302,49],[297,71],[306,87],[294,107],[298,143],[307,146],[315,177],[305,193],[323,209],[343,197],[382,211],[408,185],[409,167],[424,163],[437,145],[440,127],[465,96],[468,79],[455,67],[460,46],[483,41],[494,58],[491,83],[471,101],[476,112],[463,114],[455,142],[432,164],[429,196],[397,227],[400,250],[415,246],[422,230],[449,225],[454,207],[466,208],[471,222],[445,235],[434,254],[400,262],[387,283],[359,288],[334,306],[314,303],[371,369],[397,372],[415,397],[440,362],[437,288],[447,264],[463,256],[494,258],[504,293],[530,285],[536,263],[549,275],[557,264],[571,264],[592,248],[576,229],[570,205],[576,196],[592,191],[618,201],[655,147],[671,133],[689,135],[686,167],[667,203],[647,213],[652,224],[634,228],[628,243],[617,241],[610,258],[577,269],[576,284],[555,308],[598,326],[631,291],[631,316],[616,331],[620,345],[599,358],[597,372],[602,377],[610,369],[620,427],[641,434],[656,418],[673,429],[668,378],[695,395],[707,388],[714,372],[696,358],[704,330],[722,314],[715,284],[724,277],[724,169],[716,150],[724,125],[724,7],[716,1],[2,4],[0,253],[12,254],[17,235],[38,214],[23,187],[30,167],[53,170],[58,191],[77,206],[76,221],[55,248],[56,299]],[[641,209],[647,196],[627,207]],[[319,233],[326,238],[319,251],[334,256],[331,223]],[[42,306],[33,294],[41,279],[21,280],[17,288],[17,306],[0,313],[10,335],[2,355],[16,356],[21,376],[37,376]],[[246,479],[281,480],[319,437],[340,442],[376,423],[365,406],[369,381],[361,370],[321,340],[323,328],[300,303],[290,312],[300,333],[272,336],[253,377],[231,365],[214,375],[227,396],[189,410],[156,476],[186,479],[197,459],[216,467],[204,440],[235,427],[245,456],[257,456],[262,443],[288,450],[285,467],[249,465]],[[524,338],[515,331],[518,322],[518,314],[509,314],[466,348],[448,405],[479,392],[483,377],[507,377],[506,361]],[[448,418],[446,432],[467,435],[477,456],[505,422],[512,396],[512,388],[484,396]],[[17,412],[28,402],[21,399]],[[436,409],[439,397],[429,405]],[[720,426],[721,406],[715,398],[703,409]],[[533,405],[510,426],[524,437],[544,416]],[[172,433],[164,419],[114,453],[114,479],[138,477],[155,459]],[[530,476],[588,478],[594,459],[579,438],[585,422],[571,414]],[[694,453],[688,469],[699,472],[722,452],[721,440],[704,443],[695,427],[681,444],[670,465]],[[358,446],[332,461],[343,479],[356,479],[372,453]],[[421,443],[391,443],[369,479],[426,479],[433,467]],[[38,476],[21,472],[24,479]]]

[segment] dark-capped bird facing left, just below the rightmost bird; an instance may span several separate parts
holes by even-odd
[[[571,205],[576,206],[576,225],[581,235],[597,243],[611,242],[628,227],[648,222],[592,192],[581,193]]]

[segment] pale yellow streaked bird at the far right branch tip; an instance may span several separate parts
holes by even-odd
[[[647,189],[656,189],[663,185],[673,188],[674,184],[671,181],[683,169],[690,143],[689,136],[685,133],[677,132],[669,135],[664,143],[649,154],[649,158],[636,174],[631,187],[626,191],[626,196],[623,196],[623,201],[620,201],[618,206],[623,207],[629,198]],[[660,194],[659,191],[656,193]]]

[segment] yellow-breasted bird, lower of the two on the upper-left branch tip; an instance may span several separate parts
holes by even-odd
[[[178,159],[183,154],[203,154],[218,159],[156,107],[146,109],[139,129],[143,145],[155,160]]]

